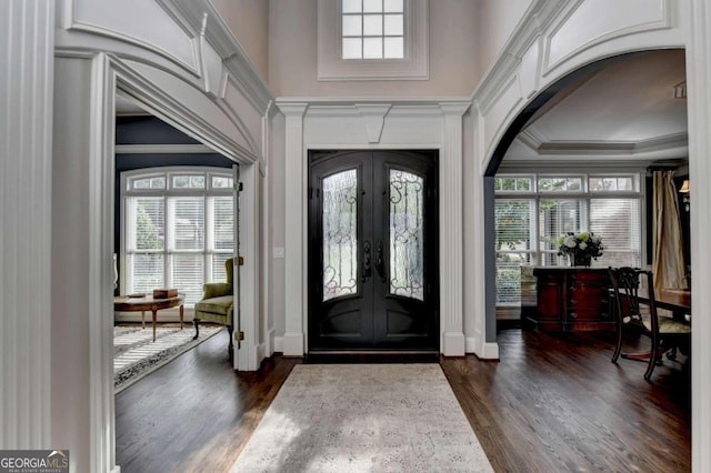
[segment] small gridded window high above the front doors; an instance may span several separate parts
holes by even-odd
[[[403,0],[342,0],[342,59],[403,59]]]

